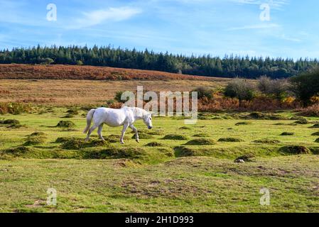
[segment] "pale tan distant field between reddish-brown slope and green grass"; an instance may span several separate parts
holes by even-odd
[[[70,80],[70,79],[0,79],[1,101],[25,101],[33,104],[72,106],[104,104],[119,91],[136,91],[138,85],[144,91],[188,92],[195,87],[224,87],[227,79],[212,80]]]

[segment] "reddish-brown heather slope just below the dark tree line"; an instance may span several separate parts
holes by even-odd
[[[205,80],[227,81],[224,78],[198,77],[150,70],[77,65],[0,65],[0,79],[90,79],[90,80]]]

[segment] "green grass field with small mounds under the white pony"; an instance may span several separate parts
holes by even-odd
[[[289,111],[200,114],[185,126],[183,118],[156,117],[151,131],[136,123],[140,143],[127,131],[120,145],[121,128],[107,126],[109,143],[96,132],[85,143],[86,111],[63,118],[67,110],[2,116],[20,124],[0,125],[1,212],[319,211],[319,134],[312,135],[319,128],[311,128],[318,118],[296,124]],[[75,126],[55,127],[59,121]],[[57,206],[46,205],[50,187]],[[259,204],[261,188],[269,189],[270,206]]]

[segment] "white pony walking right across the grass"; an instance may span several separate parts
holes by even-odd
[[[148,129],[153,128],[152,114],[148,113],[148,111],[145,111],[144,109],[126,106],[121,109],[110,109],[104,107],[91,109],[87,113],[87,127],[83,131],[83,133],[87,133],[87,138],[85,138],[85,140],[89,140],[90,135],[95,128],[98,128],[97,133],[99,134],[99,138],[104,140],[102,136],[102,128],[103,124],[106,123],[111,127],[123,126],[121,139],[119,140],[120,143],[124,143],[124,134],[126,129],[129,127],[135,132],[136,142],[139,143],[139,133],[137,133],[137,129],[134,127],[133,123],[136,120],[141,119],[144,121]],[[92,120],[94,125],[90,128]]]

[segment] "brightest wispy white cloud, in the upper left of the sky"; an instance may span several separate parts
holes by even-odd
[[[141,13],[141,9],[131,7],[110,7],[109,9],[84,12],[82,18],[75,19],[69,28],[87,28],[106,21],[125,21],[139,13]]]

